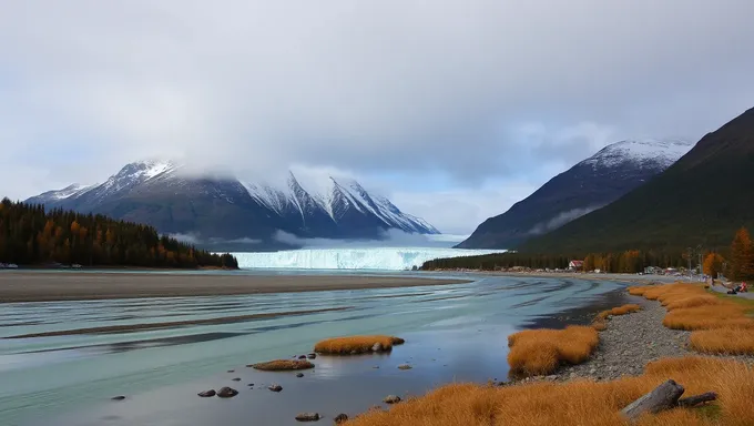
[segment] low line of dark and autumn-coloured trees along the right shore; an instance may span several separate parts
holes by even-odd
[[[720,274],[735,281],[754,280],[754,244],[748,231],[742,227],[734,235],[727,253],[730,262],[723,253],[707,252],[703,255],[703,272],[717,277]],[[699,257],[695,253],[685,251],[640,251],[626,250],[622,252],[562,254],[528,254],[499,253],[478,256],[436,258],[425,262],[421,270],[480,270],[497,271],[512,267],[532,270],[566,270],[573,260],[583,261],[584,271],[600,270],[607,273],[639,273],[648,266],[662,268],[687,267],[691,260],[692,267],[697,266]]]

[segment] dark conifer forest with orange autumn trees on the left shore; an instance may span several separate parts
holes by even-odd
[[[147,225],[43,205],[0,202],[0,262],[82,266],[228,267],[237,260],[179,242]]]

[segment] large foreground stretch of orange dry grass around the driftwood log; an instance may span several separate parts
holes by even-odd
[[[350,420],[351,426],[613,426],[626,425],[619,412],[625,405],[673,378],[685,396],[717,392],[714,416],[709,409],[674,409],[642,418],[642,426],[753,425],[754,371],[743,363],[713,358],[670,358],[652,363],[640,377],[613,382],[537,383],[508,387],[451,384],[426,396],[374,410]]]

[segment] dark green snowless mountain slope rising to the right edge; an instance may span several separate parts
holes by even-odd
[[[741,226],[754,226],[754,109],[704,135],[645,185],[519,248],[714,250],[730,246]]]

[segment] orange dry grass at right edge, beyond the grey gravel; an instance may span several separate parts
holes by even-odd
[[[751,301],[710,294],[701,284],[676,283],[629,288],[631,294],[656,300],[668,310],[662,324],[692,331],[691,348],[704,354],[754,354]]]

